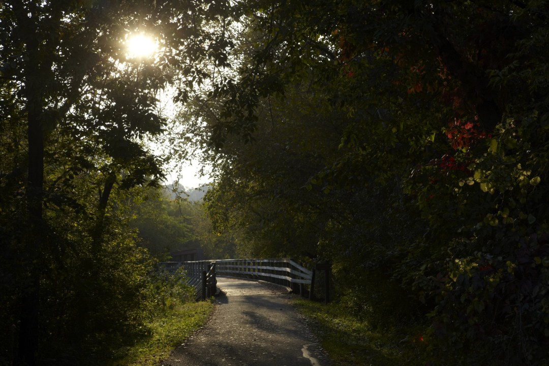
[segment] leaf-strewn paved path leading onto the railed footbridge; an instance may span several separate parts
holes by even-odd
[[[283,287],[217,278],[224,295],[206,326],[161,366],[328,366]]]

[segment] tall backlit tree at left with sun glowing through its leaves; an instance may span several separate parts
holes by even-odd
[[[54,246],[48,240],[55,241],[44,208],[76,203],[75,177],[92,174],[99,195],[89,235],[94,251],[101,251],[113,190],[155,184],[163,175],[160,160],[139,143],[163,129],[155,93],[183,77],[186,83],[177,84],[181,101],[204,79],[201,63],[223,59],[228,45],[215,24],[230,16],[225,7],[201,1],[0,5],[1,93],[9,96],[2,98],[1,119],[3,127],[17,127],[3,134],[16,148],[2,166],[2,183],[11,192],[24,192],[11,201],[3,195],[2,206],[16,207],[29,228],[5,225],[3,234],[14,237],[12,249],[26,256],[21,258],[26,280],[18,364],[35,364],[42,261]],[[214,25],[204,26],[208,22]],[[131,32],[155,35],[161,51],[147,62],[128,59],[124,43]]]

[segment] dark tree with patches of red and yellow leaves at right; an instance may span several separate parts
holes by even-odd
[[[331,195],[366,189],[371,193],[355,197],[368,201],[380,184],[396,181],[394,189],[416,202],[429,225],[407,241],[393,269],[433,310],[429,342],[443,350],[435,357],[456,352],[462,364],[546,362],[539,346],[547,342],[540,295],[547,291],[548,254],[541,203],[549,115],[546,2],[246,5],[250,39],[261,46],[243,53],[238,73],[227,77],[227,92],[212,109],[210,145],[223,153],[235,134],[244,141],[261,136],[262,107],[301,81],[322,90],[323,100],[343,112],[334,115],[344,131],[334,136],[340,150],[311,187]],[[224,182],[242,164],[239,157],[256,161],[247,153],[229,155],[220,185],[248,193],[262,188],[266,180],[244,170]],[[393,197],[390,207],[400,207],[397,192],[385,193]],[[247,215],[257,210],[242,198],[221,199],[226,190],[216,194],[213,207],[218,199],[240,205],[221,206],[220,217],[233,208]],[[363,219],[350,215],[341,225],[356,220]],[[486,349],[479,350],[479,340]],[[509,344],[518,346],[506,356],[482,356],[503,354]]]

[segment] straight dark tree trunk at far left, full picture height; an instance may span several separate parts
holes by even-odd
[[[21,41],[25,43],[27,62],[24,68],[24,95],[27,114],[27,143],[29,158],[27,160],[27,220],[28,231],[21,243],[24,245],[27,278],[21,290],[21,314],[16,365],[34,366],[38,351],[38,315],[40,311],[40,258],[42,258],[42,241],[44,223],[42,217],[44,185],[44,80],[41,68],[47,63],[41,58],[40,43],[35,32],[35,24],[29,18],[27,10],[21,4],[15,4],[15,14],[19,26],[25,29]]]

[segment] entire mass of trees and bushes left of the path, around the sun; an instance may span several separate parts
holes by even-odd
[[[181,102],[206,64],[226,66],[223,26],[239,15],[219,5],[0,5],[3,363],[78,364],[143,323],[153,261],[125,210],[164,176],[144,144],[166,126],[159,91]],[[128,57],[135,32],[159,51]]]

